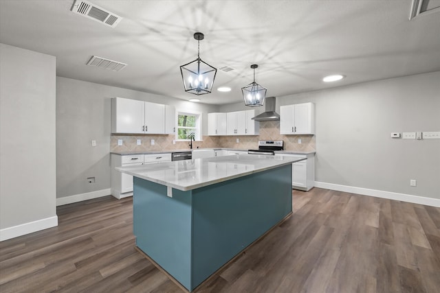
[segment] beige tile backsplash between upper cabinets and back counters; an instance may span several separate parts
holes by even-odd
[[[118,139],[122,139],[123,144],[118,145]],[[141,145],[137,145],[137,139],[141,140]],[[154,145],[151,140],[154,139]],[[182,150],[188,149],[188,141],[176,141],[174,134],[112,134],[110,141],[111,152],[129,151],[161,151],[161,150]],[[239,143],[236,142],[239,139]],[[301,143],[298,143],[298,139]],[[195,141],[192,148],[234,148],[249,150],[258,148],[259,140],[282,140],[284,149],[290,151],[311,152],[316,150],[316,140],[314,135],[282,135],[280,134],[280,121],[261,121],[259,135],[232,135],[221,137],[203,136],[203,141]]]

